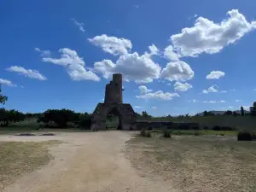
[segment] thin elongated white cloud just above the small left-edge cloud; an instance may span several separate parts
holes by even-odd
[[[9,72],[19,73],[20,75],[24,75],[25,77],[31,79],[47,80],[47,78],[43,74],[39,73],[37,70],[34,69],[26,69],[20,66],[11,66],[6,70]]]

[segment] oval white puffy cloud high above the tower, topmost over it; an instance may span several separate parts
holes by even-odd
[[[125,55],[132,48],[131,41],[125,38],[108,37],[106,34],[88,39],[90,44],[101,47],[111,55]]]

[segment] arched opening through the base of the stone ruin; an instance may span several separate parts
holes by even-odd
[[[123,122],[122,115],[118,108],[112,108],[108,111],[106,116],[106,129],[108,130],[122,130]]]

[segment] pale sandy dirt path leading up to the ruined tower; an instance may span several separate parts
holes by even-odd
[[[55,159],[21,177],[4,192],[166,192],[172,183],[141,177],[125,156],[131,132],[56,133],[54,137],[0,136],[0,141],[61,140],[50,148]]]

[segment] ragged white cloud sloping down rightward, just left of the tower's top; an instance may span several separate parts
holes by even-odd
[[[83,58],[79,57],[75,50],[63,48],[59,49],[59,52],[61,54],[60,59],[44,57],[42,61],[51,62],[56,65],[66,67],[69,77],[73,80],[100,80],[100,78],[95,73],[85,69]]]

